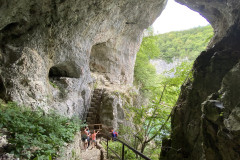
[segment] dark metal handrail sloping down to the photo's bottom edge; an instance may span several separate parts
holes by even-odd
[[[105,135],[105,134],[104,134]],[[108,146],[108,139],[110,138],[110,136],[105,135],[107,137],[107,158],[108,158],[108,148],[113,151],[109,146]],[[112,138],[112,137],[111,137]],[[122,143],[122,160],[124,160],[124,146],[127,146],[130,150],[132,150],[135,154],[139,155],[140,157],[144,158],[145,160],[151,160],[150,158],[148,158],[147,156],[145,156],[144,154],[142,154],[141,152],[135,150],[134,148],[132,148],[130,145],[128,145],[127,143],[123,142],[122,140],[118,139],[118,138],[114,138],[114,140]],[[116,155],[117,153],[113,151],[113,153]],[[119,159],[120,156],[116,155]]]

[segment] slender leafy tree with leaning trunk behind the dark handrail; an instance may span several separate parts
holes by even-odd
[[[140,142],[142,153],[151,141],[169,136],[169,115],[177,101],[182,83],[191,73],[191,67],[191,62],[183,62],[176,71],[169,71],[175,72],[174,77],[162,75],[158,84],[148,87],[151,90],[151,102],[147,106],[130,108],[135,113],[134,123],[138,126],[135,136]]]

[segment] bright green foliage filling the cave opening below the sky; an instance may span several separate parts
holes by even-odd
[[[186,80],[192,81],[193,60],[205,49],[212,35],[212,28],[206,26],[143,38],[136,58],[134,76],[135,84],[149,99],[149,103],[138,108],[128,106],[136,127],[122,127],[121,130],[123,134],[134,134],[137,142],[132,142],[134,137],[129,138],[132,145],[136,143],[136,149],[151,159],[159,158],[161,140],[170,135],[170,113],[180,94],[181,85]],[[188,57],[190,61],[182,62],[162,75],[157,75],[149,62],[154,58],[170,62],[173,57]],[[166,76],[173,74],[172,77]]]

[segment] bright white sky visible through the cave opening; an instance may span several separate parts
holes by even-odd
[[[153,28],[154,33],[159,34],[206,26],[208,24],[208,21],[199,13],[174,0],[168,0],[166,8],[153,23]]]

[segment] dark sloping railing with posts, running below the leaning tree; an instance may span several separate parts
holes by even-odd
[[[135,150],[134,148],[132,148],[131,146],[129,146],[127,143],[123,142],[122,140],[120,140],[120,139],[118,139],[118,138],[114,138],[115,141],[118,141],[119,143],[122,144],[122,153],[121,153],[121,156],[118,155],[118,153],[117,153],[114,149],[110,148],[109,145],[108,145],[108,144],[109,144],[109,141],[111,140],[111,137],[110,137],[110,136],[107,136],[107,135],[105,135],[105,136],[107,137],[107,140],[106,140],[106,143],[105,143],[105,145],[107,146],[107,159],[109,158],[109,151],[108,151],[108,150],[110,150],[112,153],[115,154],[115,156],[116,156],[119,160],[124,160],[124,156],[125,156],[125,155],[124,155],[124,154],[125,154],[124,148],[125,148],[125,146],[126,146],[126,147],[128,147],[130,150],[132,150],[137,156],[139,156],[139,157],[141,157],[141,158],[143,158],[143,159],[145,159],[145,160],[151,160],[150,158],[148,158],[147,156],[145,156],[145,155],[142,154],[141,152]]]

